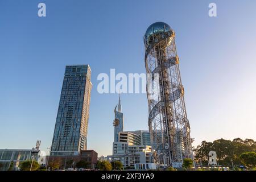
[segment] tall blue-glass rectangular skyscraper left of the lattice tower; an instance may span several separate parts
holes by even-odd
[[[52,139],[51,155],[76,155],[87,147],[91,70],[67,65]]]

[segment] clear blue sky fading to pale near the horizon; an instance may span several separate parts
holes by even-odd
[[[47,17],[38,17],[38,3]],[[216,18],[208,16],[217,3]],[[0,0],[0,148],[51,145],[65,65],[92,68],[88,148],[111,155],[118,94],[97,75],[144,73],[143,35],[162,21],[176,32],[195,143],[256,138],[255,1]],[[123,94],[125,130],[147,130],[146,94]]]

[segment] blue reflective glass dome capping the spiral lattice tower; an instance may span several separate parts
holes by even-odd
[[[147,31],[144,35],[144,45],[147,46],[150,42],[150,37],[154,34],[159,34],[160,32],[167,32],[172,30],[172,28],[164,22],[155,22],[153,24],[151,24],[151,26],[149,26],[147,28]]]

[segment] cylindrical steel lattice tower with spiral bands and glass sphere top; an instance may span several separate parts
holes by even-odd
[[[154,162],[181,167],[184,158],[193,159],[193,152],[175,32],[166,23],[151,24],[144,35],[144,46],[146,72],[152,74],[147,85],[158,79],[156,98],[148,97],[148,127]]]

